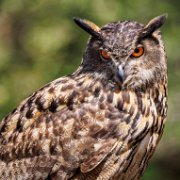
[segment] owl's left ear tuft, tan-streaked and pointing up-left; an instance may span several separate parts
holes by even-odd
[[[78,26],[80,26],[90,35],[92,35],[93,37],[99,40],[102,40],[102,35],[100,33],[101,29],[96,24],[86,19],[81,19],[81,18],[76,18],[76,17],[74,17],[73,20]]]

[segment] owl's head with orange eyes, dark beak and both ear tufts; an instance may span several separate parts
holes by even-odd
[[[147,25],[118,21],[99,28],[88,20],[74,18],[91,35],[82,67],[123,88],[142,88],[161,82],[167,74],[166,55],[159,28],[165,15]]]

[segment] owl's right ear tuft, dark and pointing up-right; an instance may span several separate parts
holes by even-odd
[[[163,14],[157,16],[149,21],[149,23],[144,27],[143,31],[141,32],[141,38],[151,35],[154,31],[159,29],[166,21],[168,15]]]

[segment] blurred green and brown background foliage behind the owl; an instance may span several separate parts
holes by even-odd
[[[134,19],[142,23],[168,13],[162,27],[168,56],[169,111],[163,138],[143,180],[180,179],[180,1],[0,1],[0,118],[45,83],[80,64],[88,34],[74,16],[102,26]]]

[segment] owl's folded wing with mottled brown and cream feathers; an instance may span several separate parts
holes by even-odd
[[[121,111],[122,101],[114,104],[112,93],[103,97],[92,91],[75,89],[69,81],[63,87],[50,84],[5,118],[0,174],[8,169],[45,177],[59,171],[71,177],[79,167],[83,173],[94,169],[119,143],[126,147],[131,114]]]

